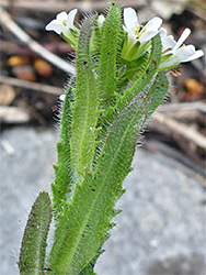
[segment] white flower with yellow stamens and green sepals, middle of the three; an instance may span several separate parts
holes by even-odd
[[[156,16],[146,24],[139,24],[136,11],[126,8],[124,9],[124,23],[127,40],[123,46],[122,57],[133,61],[145,52],[148,42],[159,33],[162,19]]]

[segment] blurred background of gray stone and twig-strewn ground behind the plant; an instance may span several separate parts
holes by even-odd
[[[159,15],[175,40],[190,28],[186,44],[206,53],[204,0],[116,2],[136,9],[140,22]],[[72,48],[45,25],[75,8],[78,24],[88,12],[105,12],[110,2],[1,0],[0,6],[0,268],[7,275],[18,274],[28,208],[54,178],[58,96],[75,68]],[[119,202],[119,226],[98,263],[100,275],[206,274],[205,64],[206,55],[168,73],[170,95],[148,122]]]

